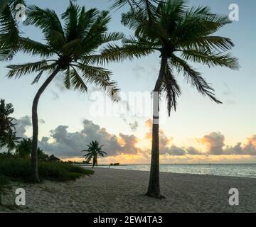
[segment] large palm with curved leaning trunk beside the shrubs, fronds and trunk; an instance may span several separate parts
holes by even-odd
[[[40,9],[38,6],[30,6],[26,11],[26,26],[41,28],[46,43],[39,43],[31,38],[20,38],[19,45],[23,52],[38,55],[42,58],[38,62],[29,62],[23,65],[9,65],[7,77],[19,78],[24,74],[37,73],[33,84],[38,82],[43,73],[49,76],[38,89],[33,99],[32,123],[33,123],[33,146],[32,146],[32,170],[33,179],[38,177],[38,101],[46,87],[53,81],[57,74],[63,74],[63,82],[67,89],[87,91],[87,84],[96,84],[106,89],[112,99],[117,92],[115,82],[112,82],[112,73],[105,68],[99,67],[99,61],[107,59],[102,55],[100,48],[106,43],[122,39],[121,33],[107,33],[107,25],[110,22],[108,11],[97,9],[85,10],[70,1],[70,6],[62,14],[64,26],[55,11]],[[96,63],[95,63],[96,62]],[[109,89],[109,88],[112,89]]]

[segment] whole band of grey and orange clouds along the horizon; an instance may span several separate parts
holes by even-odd
[[[44,123],[43,120],[40,123]],[[152,121],[145,122],[148,131],[145,133],[147,141],[151,141]],[[135,124],[136,126],[136,124]],[[31,117],[24,116],[17,120],[16,131],[17,135],[26,138],[26,131],[31,127]],[[136,126],[137,127],[137,126]],[[127,162],[132,158],[138,157],[139,160],[145,162],[150,160],[149,148],[138,148],[139,138],[131,134],[126,135],[119,133],[114,135],[109,133],[106,128],[101,128],[99,125],[89,120],[82,122],[80,131],[69,132],[68,126],[60,125],[50,131],[49,137],[43,137],[38,141],[38,146],[45,150],[46,153],[57,155],[60,158],[82,157],[80,150],[87,148],[92,140],[99,141],[104,145],[103,150],[107,152],[107,160],[115,160],[117,157],[124,157]],[[215,156],[218,158],[221,155],[255,155],[256,156],[256,135],[251,135],[245,143],[237,143],[234,146],[225,145],[225,136],[219,132],[211,132],[199,138],[198,142],[206,146],[206,150],[198,150],[195,147],[179,147],[174,144],[173,138],[167,136],[163,130],[159,130],[159,153],[165,157],[201,157],[205,160],[208,157]],[[176,156],[176,157],[175,157]],[[183,160],[187,160],[185,158]]]

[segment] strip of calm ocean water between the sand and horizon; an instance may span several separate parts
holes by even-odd
[[[110,168],[149,171],[150,165],[120,165]],[[160,172],[256,178],[256,164],[163,164],[160,165]]]

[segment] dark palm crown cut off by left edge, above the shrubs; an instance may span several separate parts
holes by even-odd
[[[4,135],[15,130],[15,118],[10,115],[14,113],[12,104],[5,104],[4,99],[0,101],[0,140],[4,140]]]

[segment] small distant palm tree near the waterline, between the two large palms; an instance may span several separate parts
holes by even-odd
[[[86,158],[86,162],[90,162],[90,160],[92,160],[92,168],[97,165],[97,155],[100,155],[102,157],[104,157],[104,155],[107,155],[107,153],[102,150],[102,146],[103,145],[100,146],[100,143],[96,140],[92,140],[92,142],[87,145],[87,150],[81,150],[81,152],[87,152],[87,154],[83,155],[83,157]]]

